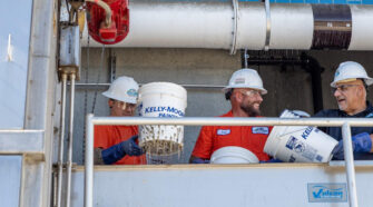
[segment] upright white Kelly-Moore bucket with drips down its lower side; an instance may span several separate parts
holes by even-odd
[[[171,82],[150,82],[139,89],[139,116],[184,117],[187,107],[187,91]],[[156,154],[177,152],[183,147],[183,126],[139,126],[139,144],[159,140],[169,142],[167,149],[158,147]],[[160,151],[160,152],[159,152]]]

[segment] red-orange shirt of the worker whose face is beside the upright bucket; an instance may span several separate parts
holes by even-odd
[[[95,126],[95,148],[107,149],[114,145],[125,141],[138,135],[137,126]],[[136,141],[137,142],[137,141]],[[115,165],[140,165],[146,164],[146,157],[125,156]]]

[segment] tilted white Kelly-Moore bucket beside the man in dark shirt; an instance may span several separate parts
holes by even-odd
[[[300,118],[284,110],[279,118]],[[274,127],[264,146],[264,151],[286,162],[327,162],[337,141],[316,127]]]

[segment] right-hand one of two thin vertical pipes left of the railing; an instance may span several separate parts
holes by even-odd
[[[66,188],[66,207],[70,206],[71,191],[71,166],[72,166],[72,129],[73,129],[73,102],[75,102],[75,73],[70,75],[70,117],[69,117],[69,139],[68,139],[68,158],[67,158],[67,188]]]

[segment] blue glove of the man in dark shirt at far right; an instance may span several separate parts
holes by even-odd
[[[353,136],[352,148],[354,152],[370,152],[372,149],[371,136],[367,132],[362,132]],[[341,140],[338,145],[335,146],[332,154],[335,159],[344,159],[343,140]]]

